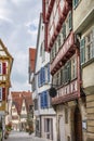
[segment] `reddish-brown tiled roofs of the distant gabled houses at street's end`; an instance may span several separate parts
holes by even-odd
[[[18,115],[22,111],[23,100],[26,102],[27,111],[29,111],[29,105],[32,105],[32,94],[30,91],[12,91],[12,102],[15,104]]]

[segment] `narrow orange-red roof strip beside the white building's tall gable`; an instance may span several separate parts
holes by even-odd
[[[35,70],[36,49],[29,48],[29,67],[30,70]]]

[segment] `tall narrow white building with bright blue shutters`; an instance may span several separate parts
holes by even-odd
[[[56,141],[56,114],[51,106],[50,54],[44,51],[44,24],[40,14],[35,76],[32,84],[36,118],[36,136]]]

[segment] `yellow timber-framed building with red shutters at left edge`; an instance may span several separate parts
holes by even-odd
[[[9,88],[11,87],[10,75],[12,64],[13,57],[0,39],[0,128],[2,131],[4,130],[6,116],[6,98],[9,94]]]

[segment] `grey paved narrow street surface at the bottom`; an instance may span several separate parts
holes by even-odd
[[[4,141],[48,141],[41,138],[37,138],[33,134],[28,134],[23,131],[12,131],[9,136],[9,139],[4,139]]]

